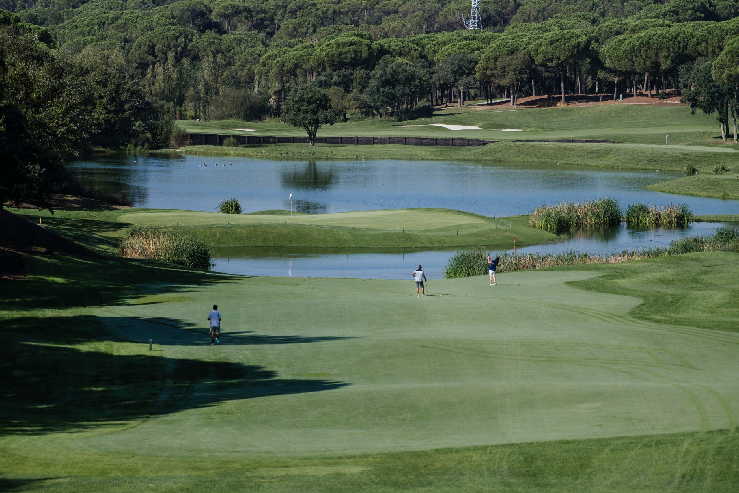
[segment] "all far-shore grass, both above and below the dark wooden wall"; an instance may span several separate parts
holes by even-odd
[[[480,126],[475,130],[449,130],[431,123]],[[304,132],[282,123],[190,122],[188,132],[234,135],[280,135],[302,137]],[[404,126],[400,126],[404,125]],[[409,126],[406,126],[409,125]],[[415,125],[415,126],[414,126]],[[257,132],[227,130],[257,129]],[[500,129],[520,129],[503,132]],[[665,135],[667,145],[665,144]],[[432,118],[389,123],[364,120],[338,123],[321,129],[327,136],[465,137],[502,140],[483,148],[408,146],[321,146],[308,154],[307,144],[265,145],[224,148],[191,146],[181,149],[191,154],[220,154],[245,157],[321,157],[336,159],[486,160],[562,163],[623,169],[682,171],[692,164],[701,173],[717,164],[734,169],[739,165],[735,143],[722,142],[715,119],[701,112],[690,115],[687,106],[641,106],[611,104],[547,109],[477,110],[446,109]],[[522,143],[511,140],[598,139],[617,143]],[[330,149],[328,149],[330,147]],[[333,154],[330,153],[333,151]]]

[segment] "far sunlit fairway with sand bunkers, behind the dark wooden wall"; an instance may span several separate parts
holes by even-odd
[[[276,122],[183,120],[178,123],[193,133],[293,137],[304,137],[305,133],[302,129]],[[440,126],[423,126],[430,123],[480,126],[481,129],[449,130]],[[256,132],[229,129],[255,129]],[[501,129],[520,129],[521,132],[506,132]],[[400,123],[381,120],[337,123],[322,127],[318,134],[319,137],[466,137],[488,140],[602,139],[655,145],[664,145],[665,135],[670,136],[667,137],[669,144],[733,146],[730,141],[727,144],[721,143],[721,132],[715,118],[702,112],[690,115],[688,106],[629,104],[545,109],[511,109],[508,106],[487,109],[450,108],[437,110],[432,118]]]

